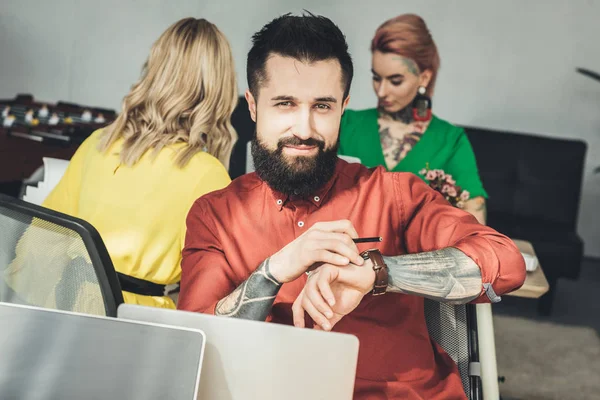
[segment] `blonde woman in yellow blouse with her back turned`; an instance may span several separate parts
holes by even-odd
[[[148,294],[179,281],[192,203],[230,182],[237,98],[225,36],[204,19],[178,21],[152,46],[119,117],[81,145],[43,203],[100,232],[125,302],[175,308]]]

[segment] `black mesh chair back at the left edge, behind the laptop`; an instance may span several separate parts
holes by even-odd
[[[123,295],[93,226],[0,195],[0,301],[116,317]]]

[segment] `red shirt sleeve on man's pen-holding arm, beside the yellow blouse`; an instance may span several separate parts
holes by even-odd
[[[179,310],[214,314],[217,303],[235,289],[231,267],[210,217],[202,198],[196,200],[188,213]]]

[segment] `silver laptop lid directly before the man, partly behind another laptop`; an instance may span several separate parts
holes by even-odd
[[[352,399],[353,335],[131,304],[117,315],[206,334],[199,399]]]

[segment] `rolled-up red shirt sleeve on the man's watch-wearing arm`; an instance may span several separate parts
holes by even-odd
[[[416,176],[406,179],[395,174],[394,179],[408,253],[446,247],[465,253],[481,270],[476,303],[499,301],[499,296],[523,285],[525,261],[511,239],[453,207]]]

